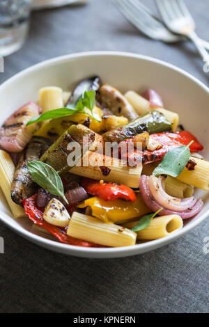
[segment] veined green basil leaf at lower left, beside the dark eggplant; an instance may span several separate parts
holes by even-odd
[[[54,168],[41,161],[29,161],[27,166],[34,182],[54,196],[61,196],[68,203],[65,198],[63,182]]]

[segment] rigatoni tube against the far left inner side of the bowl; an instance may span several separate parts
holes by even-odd
[[[3,191],[3,194],[8,202],[11,212],[13,213],[14,218],[20,218],[24,216],[25,212],[22,207],[16,205],[15,202],[11,199],[11,185],[13,182],[13,175],[15,172],[15,165],[10,158],[10,155],[0,150],[0,185]]]

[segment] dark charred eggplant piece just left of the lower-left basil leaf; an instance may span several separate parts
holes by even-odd
[[[17,205],[22,205],[22,200],[33,196],[37,190],[37,184],[31,178],[27,163],[40,159],[50,145],[52,145],[52,142],[49,139],[33,136],[31,142],[22,153],[15,169],[11,187],[11,197]]]

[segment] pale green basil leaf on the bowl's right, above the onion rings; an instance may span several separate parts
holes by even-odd
[[[169,175],[177,177],[183,171],[183,168],[187,165],[189,157],[191,155],[189,146],[194,141],[190,142],[189,145],[182,147],[175,147],[165,154],[161,163],[153,171],[153,175]]]

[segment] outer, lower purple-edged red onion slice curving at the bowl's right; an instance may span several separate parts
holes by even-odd
[[[152,196],[150,193],[150,188],[148,184],[149,177],[146,175],[142,175],[139,182],[139,189],[141,191],[141,196],[146,203],[146,205],[153,211],[157,212],[160,208],[162,208],[162,205],[160,205]],[[203,207],[203,200],[199,199],[196,200],[193,207],[183,211],[183,212],[176,212],[174,210],[169,209],[162,209],[161,212],[159,212],[159,216],[167,216],[169,214],[178,214],[183,219],[188,219],[196,216],[196,214],[199,214]]]

